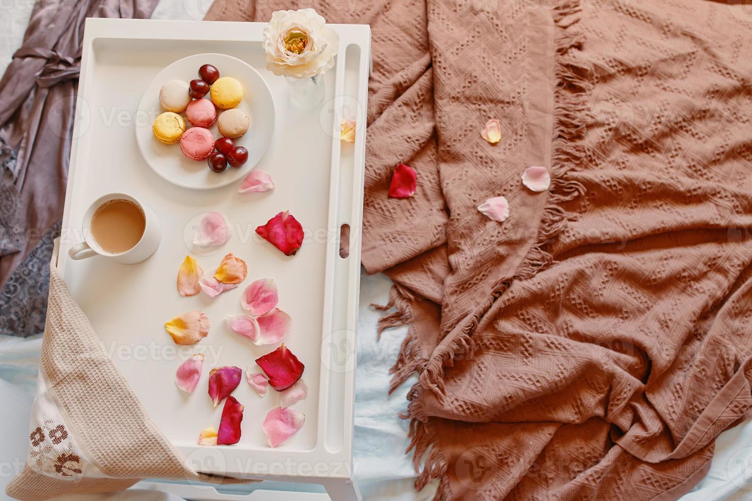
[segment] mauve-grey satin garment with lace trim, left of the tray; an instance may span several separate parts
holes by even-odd
[[[86,17],[148,18],[157,0],[39,0],[0,80],[0,333],[44,328]]]

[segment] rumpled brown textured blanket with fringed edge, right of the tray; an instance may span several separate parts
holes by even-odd
[[[368,23],[363,264],[408,323],[438,499],[672,499],[744,417],[752,12],[702,0],[218,0]],[[481,139],[487,119],[502,141]],[[396,164],[417,193],[387,198]],[[548,192],[520,184],[550,169]],[[511,216],[476,207],[505,195]],[[361,333],[367,335],[367,333]]]

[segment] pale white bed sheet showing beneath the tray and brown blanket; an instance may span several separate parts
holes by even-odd
[[[0,16],[0,71],[20,47],[29,22],[32,0],[6,2]],[[201,20],[211,0],[160,0],[153,19]],[[414,379],[387,395],[389,368],[405,337],[406,328],[387,330],[376,340],[380,316],[370,303],[389,300],[391,282],[384,275],[362,276],[360,285],[359,359],[356,374],[355,458],[356,479],[364,499],[414,501],[431,499],[435,482],[422,492],[413,488],[415,472],[411,457],[405,455],[408,423],[397,417],[404,412],[405,398]],[[23,466],[26,435],[36,385],[41,339],[0,337],[0,499],[6,499],[5,484]],[[78,496],[77,499],[83,499]],[[86,496],[86,499],[112,499]],[[129,499],[156,498],[153,493]],[[741,501],[752,499],[752,420],[728,430],[716,442],[711,471],[684,501]]]

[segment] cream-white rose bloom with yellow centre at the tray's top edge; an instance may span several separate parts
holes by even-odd
[[[314,9],[276,11],[264,28],[266,69],[283,77],[308,78],[334,66],[339,35]]]

